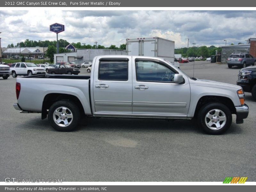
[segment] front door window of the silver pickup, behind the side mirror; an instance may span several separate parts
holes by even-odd
[[[137,81],[173,82],[175,72],[162,63],[137,60],[135,65]]]

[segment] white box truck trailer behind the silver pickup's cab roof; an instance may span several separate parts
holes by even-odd
[[[174,57],[174,41],[168,39],[160,37],[127,38],[126,51],[128,55],[161,57],[180,68],[180,63]]]

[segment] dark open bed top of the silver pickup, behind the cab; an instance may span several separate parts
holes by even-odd
[[[51,74],[42,74],[42,75],[24,76],[24,77],[21,77],[21,78],[90,79],[90,76],[85,76],[85,75],[51,75]]]

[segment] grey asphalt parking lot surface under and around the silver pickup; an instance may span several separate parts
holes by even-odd
[[[181,64],[193,76],[193,62]],[[239,68],[195,62],[194,76],[236,84]],[[89,75],[81,68],[80,75]],[[207,135],[195,120],[84,119],[74,132],[57,132],[41,114],[20,114],[16,78],[0,78],[0,181],[256,181],[256,101],[223,135]],[[33,97],[33,95],[31,95]],[[29,99],[29,98],[28,98]]]

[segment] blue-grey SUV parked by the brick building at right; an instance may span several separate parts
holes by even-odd
[[[246,66],[255,64],[256,58],[254,58],[249,53],[232,53],[228,57],[228,68],[231,68],[232,66],[245,68]]]

